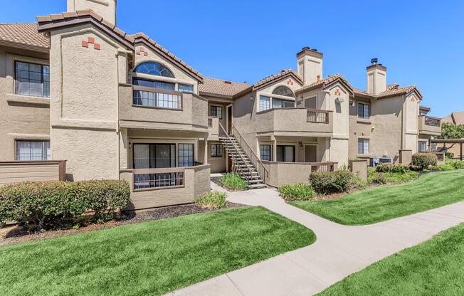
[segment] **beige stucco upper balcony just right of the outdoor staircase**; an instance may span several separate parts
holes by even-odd
[[[332,111],[307,108],[280,108],[256,113],[258,136],[295,135],[303,137],[331,137]]]

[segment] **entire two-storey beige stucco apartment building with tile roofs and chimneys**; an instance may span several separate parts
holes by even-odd
[[[66,179],[125,179],[132,208],[189,203],[211,172],[253,187],[307,181],[349,159],[428,149],[440,120],[414,86],[387,85],[371,61],[367,90],[297,68],[254,84],[204,78],[144,33],[115,26],[115,0],[68,0],[37,23],[0,24],[0,161],[66,161]],[[422,142],[426,146],[423,147]]]

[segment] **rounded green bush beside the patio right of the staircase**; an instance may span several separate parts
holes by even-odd
[[[310,184],[321,194],[348,191],[353,186],[353,174],[347,169],[316,171],[310,174]]]

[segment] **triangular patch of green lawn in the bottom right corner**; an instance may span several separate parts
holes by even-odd
[[[345,277],[325,295],[464,295],[464,224]]]

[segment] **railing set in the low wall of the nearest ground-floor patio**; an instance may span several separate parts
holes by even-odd
[[[132,171],[134,191],[184,186],[183,167],[163,169],[134,169]]]

